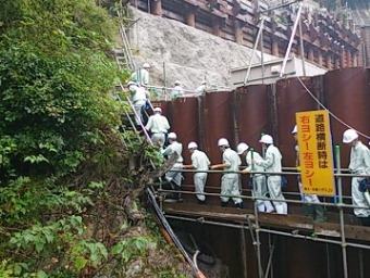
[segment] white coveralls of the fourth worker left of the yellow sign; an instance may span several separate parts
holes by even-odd
[[[207,154],[199,150],[194,150],[192,153],[192,165],[196,170],[208,170],[209,165],[211,162],[209,161]],[[205,192],[205,185],[207,181],[207,173],[195,173],[194,174],[194,187],[195,192],[197,193],[197,199],[199,201],[205,201],[206,195]]]

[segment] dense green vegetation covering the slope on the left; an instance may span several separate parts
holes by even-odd
[[[184,277],[137,202],[157,152],[120,131],[115,25],[91,0],[0,0],[0,277]]]

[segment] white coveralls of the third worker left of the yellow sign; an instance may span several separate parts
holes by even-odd
[[[223,151],[222,163],[226,164],[224,170],[239,170],[242,164],[239,155],[232,149],[227,148]],[[225,173],[221,179],[221,194],[225,195],[240,195],[239,190],[239,174]],[[229,202],[230,197],[221,197],[222,202]],[[235,204],[243,203],[242,198],[233,197]]]

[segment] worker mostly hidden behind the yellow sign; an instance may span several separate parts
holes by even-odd
[[[297,144],[297,142],[298,142],[298,128],[297,128],[296,125],[294,126],[294,128],[292,130],[292,135],[294,137],[295,142],[296,142],[296,146],[295,146],[296,167],[297,167],[298,172],[300,172],[299,147]],[[312,217],[316,223],[325,222],[326,220],[325,210],[322,205],[320,205],[320,203],[321,203],[320,199],[318,198],[317,194],[305,194],[303,192],[300,176],[297,176],[297,177],[298,177],[298,188],[299,188],[299,192],[300,192],[300,195],[301,195],[301,201],[304,201],[304,213],[305,213],[305,215]]]

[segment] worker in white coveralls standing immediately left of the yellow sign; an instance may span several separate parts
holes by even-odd
[[[262,135],[259,142],[262,148],[266,148],[264,159],[261,161],[252,160],[258,166],[262,166],[267,174],[268,189],[271,199],[275,206],[278,214],[287,214],[287,203],[284,201],[285,198],[282,193],[282,154],[279,149],[273,144],[273,139],[270,135]],[[276,173],[275,175],[273,173]],[[278,174],[279,173],[279,174]]]

